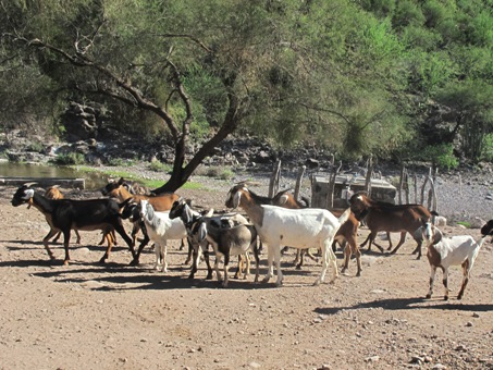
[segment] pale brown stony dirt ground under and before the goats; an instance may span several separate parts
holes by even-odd
[[[493,368],[490,240],[461,301],[455,298],[458,268],[451,273],[449,301],[443,300],[441,272],[435,296],[423,299],[430,269],[424,256],[410,255],[409,237],[392,257],[365,251],[360,278],[352,260],[346,275],[312,286],[321,266],[307,259],[296,270],[291,251],[283,257],[284,286],[275,287],[275,279],[254,284],[250,276],[221,288],[204,280],[204,263],[195,280],[187,279],[177,243],[169,248],[168,273],[152,270],[150,248],[138,267],[128,266],[124,247],[99,264],[104,248],[97,246],[98,232],[81,233],[67,267],[56,244],[51,263],[40,243],[48,232],[44,217],[12,207],[14,190],[3,189],[0,198],[1,369]],[[223,208],[225,193],[183,193]],[[479,230],[443,231],[479,237]],[[367,233],[361,229],[359,239]],[[341,266],[341,251],[337,259]]]

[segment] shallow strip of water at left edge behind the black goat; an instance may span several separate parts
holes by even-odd
[[[64,177],[85,178],[86,189],[99,189],[108,183],[108,176],[95,171],[77,171],[63,165],[0,162],[0,176],[9,177]]]

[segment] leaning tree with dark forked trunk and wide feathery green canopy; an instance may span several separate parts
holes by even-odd
[[[20,66],[36,65],[83,99],[104,97],[159,118],[174,163],[157,193],[180,188],[241,126],[282,141],[308,137],[360,151],[395,146],[405,132],[395,125],[402,74],[379,77],[398,62],[399,45],[381,39],[389,24],[345,1],[0,5],[3,55],[17,52]],[[197,122],[206,123],[208,136],[188,157]]]

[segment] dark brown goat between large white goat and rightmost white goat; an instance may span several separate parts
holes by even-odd
[[[422,242],[415,237],[415,231],[421,226],[422,218],[431,218],[431,213],[426,207],[421,205],[392,205],[375,201],[361,193],[353,195],[349,199],[349,203],[356,218],[359,221],[365,220],[368,229],[370,229],[370,245],[368,249],[371,249],[371,244],[373,243],[380,251],[383,252],[383,248],[374,242],[378,232],[400,233],[399,243],[391,250],[391,255],[393,255],[404,244],[406,233],[409,233],[418,244],[412,254],[417,252],[418,259],[421,258]],[[362,243],[360,247],[362,247],[365,243]]]

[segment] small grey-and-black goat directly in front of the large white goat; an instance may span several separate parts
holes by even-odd
[[[250,260],[248,257],[248,250],[254,251],[257,272],[255,274],[255,282],[258,282],[259,276],[259,255],[257,246],[257,231],[251,224],[241,224],[232,227],[219,227],[207,220],[201,218],[198,221],[198,227],[195,229],[195,233],[198,234],[198,242],[207,240],[212,245],[215,254],[215,275],[218,281],[222,281],[222,286],[227,286],[227,270],[230,264],[231,256],[243,256],[247,267],[245,269],[244,279],[247,279],[250,268]],[[219,271],[219,261],[221,256],[224,256],[224,280],[221,278]],[[238,267],[238,272],[239,272]]]

